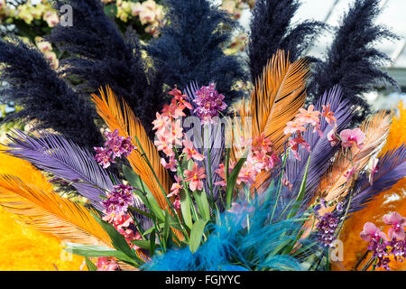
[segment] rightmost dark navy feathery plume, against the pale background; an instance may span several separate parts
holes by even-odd
[[[379,0],[355,0],[337,29],[326,61],[318,62],[314,67],[309,85],[310,99],[314,102],[324,91],[339,84],[345,98],[353,106],[360,107],[353,122],[362,121],[370,111],[363,93],[374,89],[380,81],[397,86],[396,81],[382,70],[390,58],[373,45],[384,39],[397,39],[397,36],[386,27],[374,24],[378,14]]]

